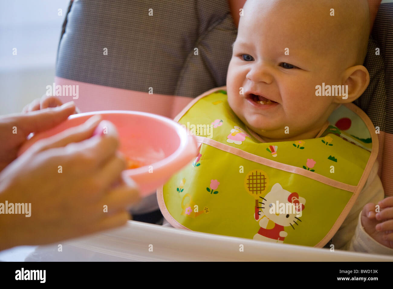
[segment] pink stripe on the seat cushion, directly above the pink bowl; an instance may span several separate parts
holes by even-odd
[[[193,100],[185,96],[149,94],[147,92],[107,87],[55,77],[56,85],[79,85],[78,98],[58,96],[64,103],[75,101],[81,112],[97,110],[136,110],[160,114],[173,119]],[[153,90],[154,92],[154,90]]]

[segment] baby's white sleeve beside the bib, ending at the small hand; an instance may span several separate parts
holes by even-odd
[[[351,250],[373,254],[393,254],[393,249],[382,245],[369,236],[361,222],[361,213],[365,204],[373,202],[377,204],[384,199],[384,188],[377,175],[378,161],[371,169],[363,190],[360,192],[352,210],[345,218],[340,229],[332,238],[335,249]]]

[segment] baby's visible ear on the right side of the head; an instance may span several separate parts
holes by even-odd
[[[342,77],[342,95],[336,96],[334,103],[349,103],[359,98],[370,83],[370,75],[363,65],[347,68]]]

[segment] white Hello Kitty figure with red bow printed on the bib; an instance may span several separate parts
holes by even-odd
[[[264,198],[255,200],[254,218],[261,228],[253,239],[284,243],[285,237],[288,236],[284,227],[292,226],[295,229],[299,225],[298,222],[301,220],[298,216],[304,210],[305,203],[306,199],[299,197],[298,193],[284,190],[279,183],[274,184]]]

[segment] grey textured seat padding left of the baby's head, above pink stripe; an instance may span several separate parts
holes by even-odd
[[[77,0],[64,23],[56,75],[195,97],[225,85],[236,34],[226,0]]]

